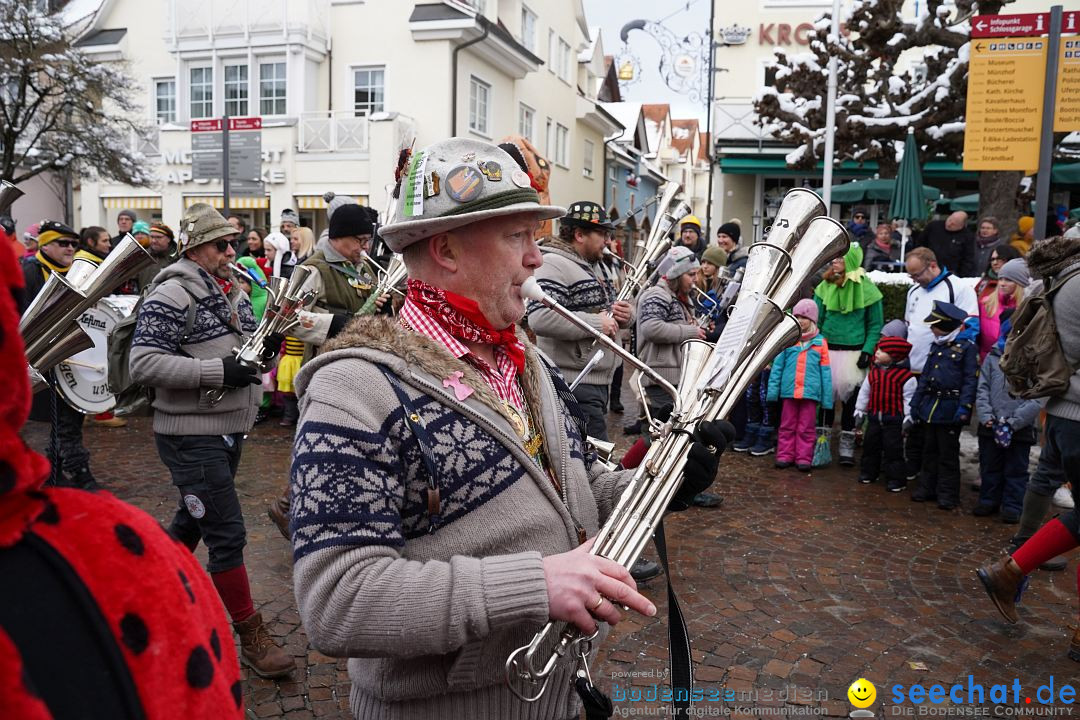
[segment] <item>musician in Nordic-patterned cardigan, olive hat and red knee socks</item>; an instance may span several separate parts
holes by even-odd
[[[246,533],[234,477],[244,435],[262,396],[254,368],[232,349],[255,330],[252,303],[230,282],[237,231],[205,203],[181,220],[180,259],[161,271],[139,309],[131,373],[154,389],[153,432],[180,502],[168,531],[192,552],[202,540],[206,569],[240,635],[241,658],[262,677],[283,677],[293,658],[270,638],[252,603],[244,567]],[[194,322],[185,335],[188,308]],[[267,339],[276,352],[280,336]],[[226,388],[217,405],[205,391]]]

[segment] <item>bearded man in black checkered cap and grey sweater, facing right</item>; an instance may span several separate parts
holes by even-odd
[[[629,302],[615,301],[615,286],[598,264],[613,230],[596,203],[571,203],[558,221],[558,236],[540,248],[543,264],[536,271],[537,282],[549,296],[612,339],[634,320]],[[597,350],[593,337],[539,302],[529,303],[528,322],[537,347],[558,367],[566,382],[573,383]],[[608,390],[621,363],[605,351],[604,358],[573,388],[589,435],[597,439],[608,439]]]

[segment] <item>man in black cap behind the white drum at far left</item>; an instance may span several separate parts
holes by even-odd
[[[38,252],[23,260],[23,277],[26,282],[26,293],[23,296],[25,307],[19,313],[26,312],[45,281],[51,274],[66,275],[71,269],[76,250],[79,247],[79,234],[63,222],[44,220],[38,234]],[[50,458],[62,471],[63,484],[77,488],[96,490],[97,480],[90,472],[90,450],[82,441],[82,423],[84,416],[58,397],[48,393],[39,393],[33,406],[31,419],[56,423],[56,452],[58,458]],[[48,399],[48,402],[45,402]],[[51,409],[55,405],[55,413]]]

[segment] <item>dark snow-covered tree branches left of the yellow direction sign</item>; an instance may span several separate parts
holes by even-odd
[[[970,26],[1012,0],[927,0],[917,19],[904,19],[903,0],[855,0],[831,36],[828,15],[814,23],[809,53],[777,51],[775,86],[755,98],[758,122],[777,139],[797,145],[793,167],[809,168],[825,146],[828,60],[837,58],[836,160],[899,163],[908,127],[924,157],[958,160],[963,150]]]

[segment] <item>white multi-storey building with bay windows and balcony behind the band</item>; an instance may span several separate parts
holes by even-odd
[[[193,178],[195,120],[259,118],[264,191],[231,193],[230,209],[267,228],[294,208],[316,230],[324,192],[383,210],[399,150],[451,135],[525,135],[551,162],[553,202],[599,202],[619,127],[596,103],[603,45],[580,0],[105,0],[79,44],[143,87],[153,132],[133,142],[159,178],[82,178],[81,226],[222,207],[220,180]]]

